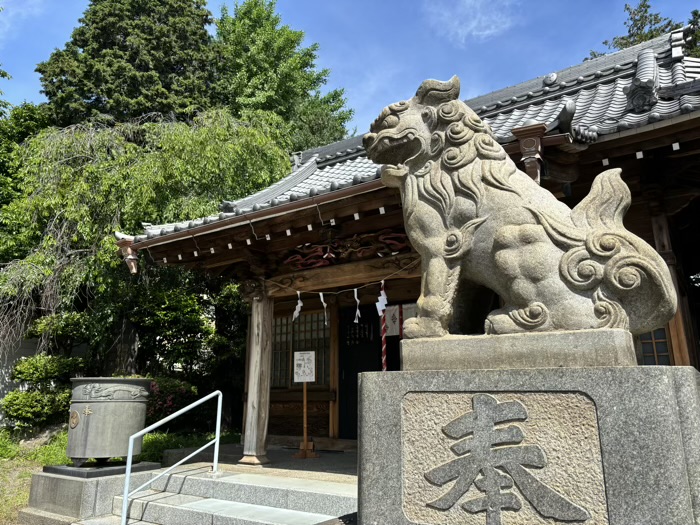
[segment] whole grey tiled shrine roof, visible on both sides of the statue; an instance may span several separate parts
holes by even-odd
[[[675,31],[466,103],[504,144],[515,140],[514,128],[533,123],[570,133],[575,142],[595,142],[601,135],[700,110],[700,59],[684,57],[682,46],[683,31]],[[689,89],[679,96],[664,96],[679,86]],[[287,177],[249,197],[222,203],[219,215],[147,226],[134,242],[323,195],[378,177],[377,166],[365,156],[361,135],[296,154],[294,162],[294,171]]]

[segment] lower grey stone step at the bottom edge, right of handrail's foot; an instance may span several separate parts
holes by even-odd
[[[121,515],[121,506],[122,498],[120,496],[114,498],[115,517]],[[334,517],[327,514],[149,490],[138,493],[131,499],[129,518],[156,525],[317,525]]]

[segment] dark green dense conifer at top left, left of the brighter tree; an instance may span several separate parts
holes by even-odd
[[[205,3],[91,0],[71,40],[36,68],[58,123],[206,108],[212,19]]]

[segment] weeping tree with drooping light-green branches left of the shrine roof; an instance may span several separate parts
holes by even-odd
[[[214,110],[191,124],[88,123],[25,141],[15,153],[20,194],[0,210],[0,354],[32,330],[51,352],[87,342],[101,366],[131,325],[143,345],[130,371],[194,366],[215,324],[204,315],[206,282],[145,263],[129,275],[112,233],[216,213],[224,198],[286,174],[280,117],[246,118]],[[149,335],[158,323],[161,339]]]

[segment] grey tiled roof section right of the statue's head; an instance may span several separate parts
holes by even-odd
[[[631,100],[635,83],[649,81],[650,92],[658,92],[700,75],[700,61],[674,52],[674,40],[679,36],[682,30],[473,98],[467,104],[489,123],[501,143],[515,140],[513,128],[552,123],[567,102],[576,109],[567,129],[561,131],[571,133],[579,142],[594,142],[600,135],[696,111],[700,109],[700,91],[670,100],[657,96],[644,111],[635,110]],[[640,71],[643,66],[646,69]],[[639,79],[640,75],[645,78]]]

